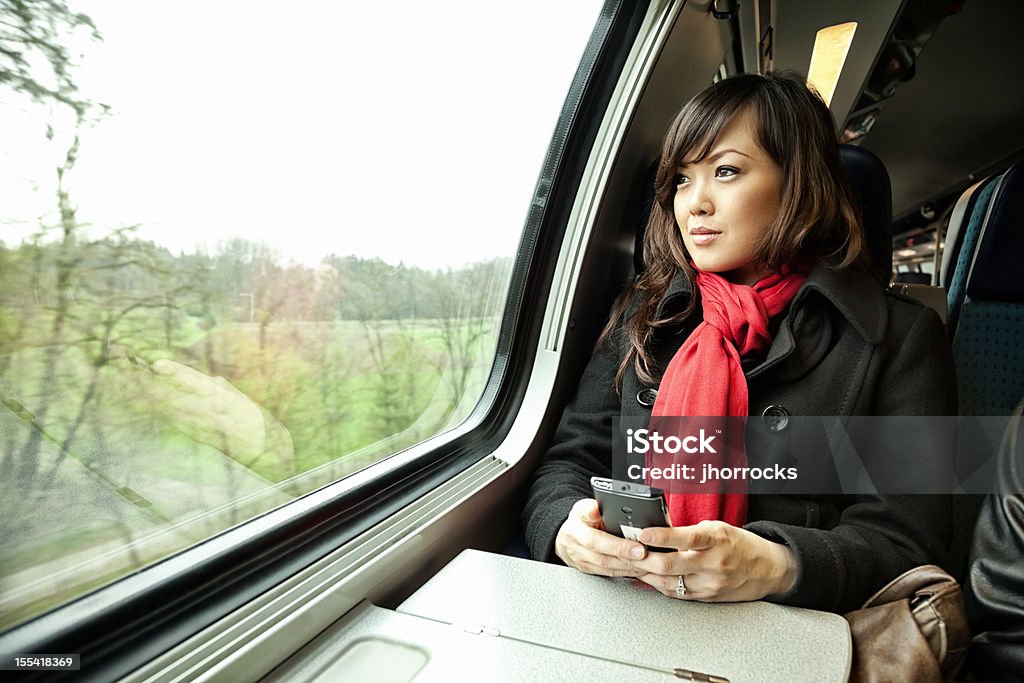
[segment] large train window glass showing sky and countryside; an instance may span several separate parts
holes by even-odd
[[[601,3],[79,5],[0,6],[3,628],[467,418]]]

